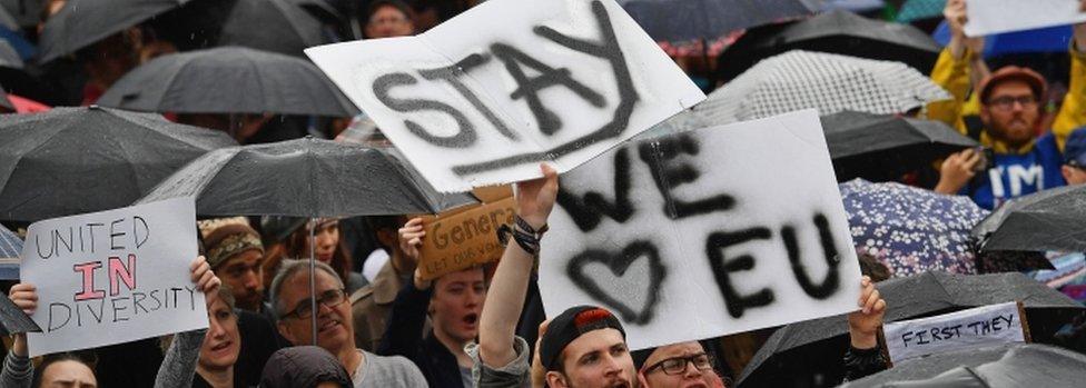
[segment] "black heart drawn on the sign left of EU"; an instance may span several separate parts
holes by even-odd
[[[616,285],[615,280],[619,279],[605,279],[610,281],[600,281],[600,279],[594,279],[585,273],[585,267],[590,263],[596,262],[606,266],[611,270],[611,275],[616,278],[624,278],[626,270],[634,262],[640,259],[646,259],[648,262],[648,273],[640,271],[641,276],[646,276],[648,279],[632,279],[625,281],[625,283],[632,283],[639,287],[633,289],[622,290],[621,287],[609,287],[604,289],[600,287],[603,285]],[[593,299],[600,301],[604,306],[611,308],[612,311],[618,311],[622,316],[622,320],[626,322],[645,325],[652,320],[652,315],[655,311],[656,302],[660,300],[660,288],[663,283],[664,277],[668,275],[668,268],[664,267],[663,262],[660,260],[660,252],[656,247],[652,246],[649,241],[634,241],[633,243],[625,247],[622,252],[612,253],[604,250],[592,249],[588,250],[581,255],[577,255],[570,260],[570,263],[565,268],[566,275],[573,280],[577,287],[589,294]],[[634,273],[631,273],[631,276]],[[625,279],[622,279],[625,280]],[[628,291],[623,294],[629,294],[629,291],[646,291],[648,296],[644,298],[644,304],[640,311],[634,310],[634,307],[622,301],[622,299],[630,300],[635,299],[636,296],[633,295],[612,295],[613,289],[619,288],[619,291]],[[618,298],[616,298],[618,297]],[[638,298],[640,299],[640,298]]]

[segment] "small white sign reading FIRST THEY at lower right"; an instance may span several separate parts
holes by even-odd
[[[1028,325],[1018,302],[984,306],[882,326],[891,362],[970,348],[1028,342]]]

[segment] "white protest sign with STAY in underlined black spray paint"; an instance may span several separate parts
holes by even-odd
[[[705,98],[614,0],[491,0],[306,54],[446,192],[567,171]]]

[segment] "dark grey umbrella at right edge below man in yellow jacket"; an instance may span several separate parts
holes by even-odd
[[[1019,197],[973,228],[980,251],[1086,251],[1086,186]]]

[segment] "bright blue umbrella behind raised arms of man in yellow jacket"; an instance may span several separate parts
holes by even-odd
[[[950,42],[950,27],[946,20],[939,23],[931,37],[942,46]],[[1066,52],[1070,39],[1070,26],[997,33],[985,37],[985,58],[1008,53]]]

